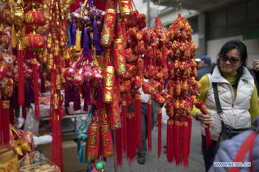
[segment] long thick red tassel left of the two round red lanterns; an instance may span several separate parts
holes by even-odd
[[[19,48],[19,46],[18,46]],[[23,52],[17,50],[18,54],[18,104],[24,105],[24,75],[23,75]]]

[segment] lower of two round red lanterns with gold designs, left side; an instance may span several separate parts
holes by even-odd
[[[23,44],[26,48],[43,48],[45,39],[39,34],[28,34],[23,38]]]

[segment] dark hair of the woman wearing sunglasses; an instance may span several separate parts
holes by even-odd
[[[241,67],[240,67],[240,71],[239,70],[237,70],[238,71],[238,73],[237,73],[237,79],[236,79],[236,82],[235,82],[235,84],[234,85],[237,85],[237,83],[238,83],[238,81],[239,81],[239,79],[240,79],[240,77],[242,76],[242,74],[243,74],[243,68],[242,67],[247,67],[247,49],[246,49],[246,46],[245,46],[245,44],[243,43],[243,42],[241,42],[240,40],[230,40],[230,41],[228,41],[228,42],[226,42],[222,47],[221,47],[221,49],[220,49],[220,52],[218,53],[218,55],[217,55],[217,67],[219,67],[220,68],[220,56],[221,55],[225,55],[229,50],[233,50],[233,49],[237,49],[237,50],[239,50],[239,52],[240,52],[240,55],[241,55],[241,61],[242,61],[242,65],[241,65]],[[215,66],[215,67],[216,67]],[[213,69],[212,69],[212,72],[211,72],[211,74],[213,73]],[[220,73],[221,73],[221,70],[220,70]],[[221,73],[221,75],[222,75],[222,73]],[[222,75],[223,76],[223,75]],[[234,85],[232,85],[232,86],[234,86]]]

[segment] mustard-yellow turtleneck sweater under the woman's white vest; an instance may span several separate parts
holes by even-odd
[[[226,78],[226,80],[230,83],[230,85],[233,85],[235,83],[236,78],[237,78],[237,72],[233,73],[233,74],[224,73],[223,71],[221,71],[221,72],[224,75],[224,77]],[[204,102],[206,99],[207,91],[210,88],[209,77],[207,75],[204,75],[201,78],[201,80],[199,81],[199,83],[201,84],[201,89],[199,89],[200,94],[201,94],[199,97],[199,100],[202,100]],[[237,85],[233,87],[233,91],[234,91],[234,100],[235,100],[237,97]],[[259,116],[256,85],[254,85],[254,93],[251,97],[250,108],[248,111],[251,115],[251,121],[254,120],[257,116]],[[197,112],[200,112],[200,110],[197,109],[195,106],[193,106],[193,111],[191,112],[191,114],[193,115],[194,118],[196,117]]]

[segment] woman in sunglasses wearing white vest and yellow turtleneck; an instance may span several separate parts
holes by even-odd
[[[251,126],[251,120],[259,116],[257,91],[254,79],[246,68],[247,50],[240,40],[226,42],[218,54],[218,65],[212,73],[204,75],[199,83],[202,85],[199,100],[204,102],[208,114],[203,115],[199,109],[193,108],[192,115],[201,121],[202,153],[205,169],[212,165],[213,149],[221,132],[220,116],[217,114],[212,82],[216,82],[218,96],[223,111],[223,120],[234,128]],[[205,124],[210,124],[212,146],[206,150]]]

